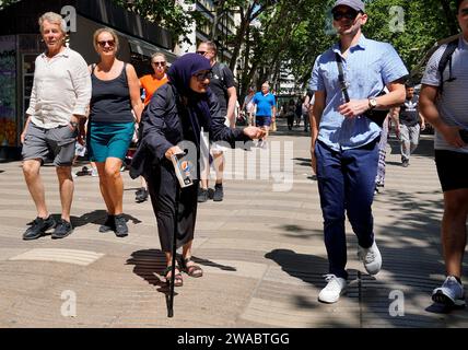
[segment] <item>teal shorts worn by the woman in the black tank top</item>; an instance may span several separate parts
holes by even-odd
[[[124,161],[133,131],[134,122],[90,121],[86,142],[90,161],[103,163],[108,158]]]

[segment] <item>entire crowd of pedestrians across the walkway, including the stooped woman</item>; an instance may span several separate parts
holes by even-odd
[[[407,81],[409,72],[394,47],[362,33],[368,20],[363,1],[336,1],[331,13],[338,42],[317,57],[309,93],[297,102],[291,98],[281,108],[290,130],[302,119],[304,131],[311,132],[312,168],[317,175],[329,262],[320,302],[335,303],[347,291],[346,218],[358,237],[364,269],[370,275],[379,272],[384,258],[374,233],[372,205],[385,184],[389,125],[395,127],[401,165],[407,167],[428,121],[435,129],[435,163],[444,194],[442,247],[446,267],[446,279],[432,298],[449,306],[465,305],[461,267],[468,176],[459,164],[468,161],[468,102],[464,94],[468,85],[468,0],[457,0],[456,4],[461,35],[431,57],[418,101],[413,84]],[[233,73],[217,60],[214,43],[202,42],[196,52],[177,58],[168,69],[166,57],[154,54],[153,72],[139,79],[130,63],[117,58],[119,40],[113,30],[95,32],[93,45],[100,59],[86,66],[80,54],[65,45],[66,27],[59,14],[45,13],[39,27],[46,50],[35,62],[31,104],[21,135],[23,173],[37,218],[23,238],[36,240],[50,229],[52,238],[72,233],[71,166],[75,142],[84,144],[84,137],[107,212],[98,231],[127,236],[120,168],[138,135],[131,164],[131,176],[141,176],[136,200],[151,198],[166,257],[164,276],[171,279],[175,237],[183,250],[175,268],[175,285],[183,285],[182,271],[201,277],[203,271],[191,259],[191,247],[198,202],[210,198],[210,166],[213,164],[217,173],[211,198],[221,201],[226,144],[233,148],[235,141],[258,139],[257,147],[267,147],[277,117],[277,98],[269,83],[264,82],[257,93],[248,89],[241,107],[247,126],[236,128]],[[446,63],[449,47],[453,50]],[[171,160],[186,153],[183,141],[196,147],[188,155],[197,174],[194,186],[180,189]],[[54,160],[60,191],[58,222],[48,212],[39,174],[48,158]]]

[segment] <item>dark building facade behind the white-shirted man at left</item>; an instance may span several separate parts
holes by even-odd
[[[23,0],[0,11],[0,160],[16,160],[21,154],[20,135],[30,104],[34,62],[45,48],[37,20],[48,11],[63,15],[69,28],[68,45],[87,63],[98,58],[93,33],[103,26],[116,31],[120,40],[118,57],[131,62],[139,75],[151,72],[149,60],[153,52],[164,52],[169,62],[176,58],[167,31],[108,0]]]

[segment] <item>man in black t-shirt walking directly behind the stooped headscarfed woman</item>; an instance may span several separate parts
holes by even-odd
[[[213,77],[210,79],[210,89],[217,95],[221,112],[225,117],[224,124],[230,128],[235,128],[235,108],[237,103],[237,92],[234,84],[234,75],[231,69],[217,61],[218,48],[213,42],[202,42],[197,49],[197,54],[210,60]],[[203,130],[204,132],[206,130]],[[214,171],[217,180],[214,184],[213,200],[222,201],[224,198],[223,173],[224,173],[224,148],[213,143],[211,147],[207,144],[207,138],[203,141],[203,162],[200,189],[198,192],[198,201],[204,202],[209,196],[209,177],[210,177],[210,152],[213,156]]]

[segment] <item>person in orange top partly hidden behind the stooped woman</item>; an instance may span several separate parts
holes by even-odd
[[[151,56],[151,67],[154,73],[147,74],[140,78],[140,86],[144,90],[144,107],[153,97],[154,92],[167,82],[166,75],[167,60],[166,56],[162,52],[155,52]],[[141,135],[141,132],[139,132]],[[137,202],[143,202],[148,199],[148,186],[143,177],[141,177],[141,187],[134,194]]]

